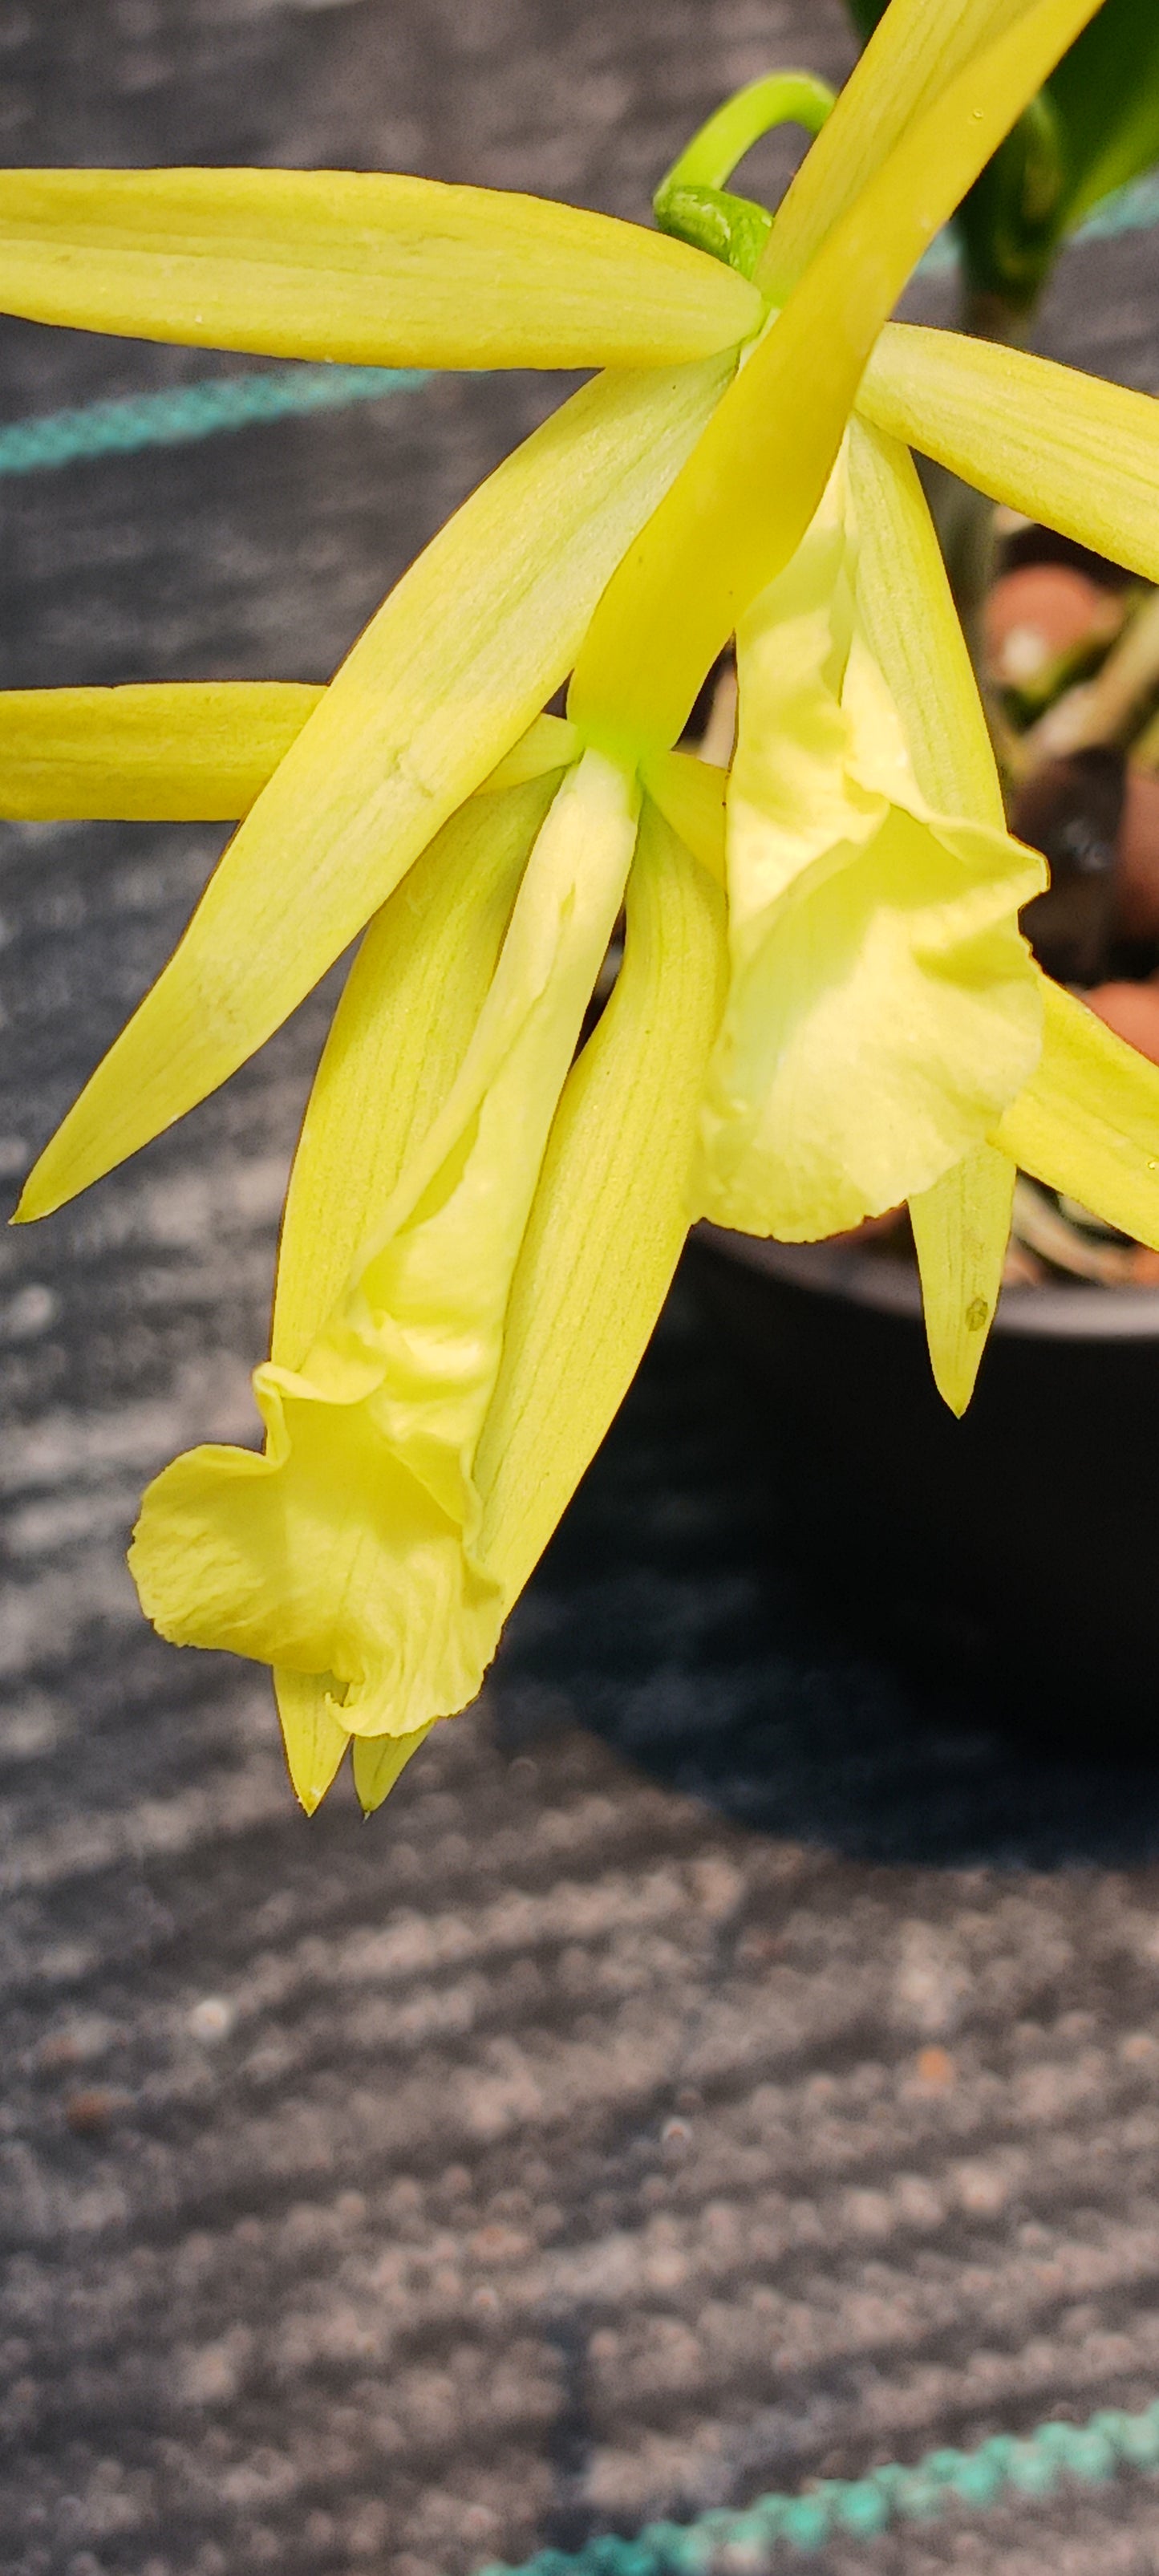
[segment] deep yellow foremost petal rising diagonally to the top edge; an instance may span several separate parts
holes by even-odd
[[[922,250],[1097,5],[1035,0],[971,57],[827,232],[608,582],[569,696],[587,732],[652,747],[677,739],[747,603],[801,544],[873,340]],[[822,142],[834,124],[837,108]]]

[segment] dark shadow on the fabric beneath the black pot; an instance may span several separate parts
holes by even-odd
[[[796,1528],[768,1414],[685,1278],[510,1620],[505,1744],[595,1731],[737,1824],[883,1865],[1159,1857],[1159,1708],[1015,1672]]]

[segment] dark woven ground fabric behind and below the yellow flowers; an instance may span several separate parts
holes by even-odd
[[[646,219],[726,90],[850,59],[840,0],[3,0],[0,147]],[[765,144],[742,183],[786,170]],[[953,276],[907,309],[948,319]],[[1038,345],[1156,389],[1156,237],[1074,245]],[[0,412],[240,363],[0,322]],[[556,399],[446,379],[0,477],[3,685],[327,677]],[[221,837],[0,827],[13,1198]],[[142,1484],[250,1435],[330,1007],[0,1242],[0,2563],[469,2576],[1149,2403],[1146,1731],[914,1667],[847,1558],[801,1574],[775,1422],[690,1278],[484,1703],[371,1824],[348,1785],[299,1816],[263,1674],[142,1625]],[[1082,1484],[1053,1507],[1079,1582]],[[873,2566],[1151,2576],[1154,2532],[1128,2481]]]

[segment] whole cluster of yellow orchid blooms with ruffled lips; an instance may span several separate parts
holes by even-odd
[[[909,1200],[956,1412],[1015,1164],[1159,1244],[1159,1072],[1020,938],[1043,863],[1004,829],[909,456],[1159,580],[1159,407],[889,322],[1095,8],[891,0],[832,113],[788,75],[721,111],[659,232],[415,178],[0,175],[13,314],[603,371],[330,688],[0,701],[8,814],[242,817],[21,1218],[224,1082],[366,930],[286,1200],[265,1448],[178,1458],[131,1551],[165,1636],[273,1667],[306,1808],[350,1741],[376,1806],[476,1695],[693,1216],[806,1239]],[[724,185],[773,113],[816,129],[775,216]],[[724,778],[677,742],[731,636]]]

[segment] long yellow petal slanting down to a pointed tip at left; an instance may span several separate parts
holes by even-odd
[[[21,1216],[59,1208],[216,1090],[386,902],[572,667],[729,371],[598,376],[435,536],[229,842]]]

